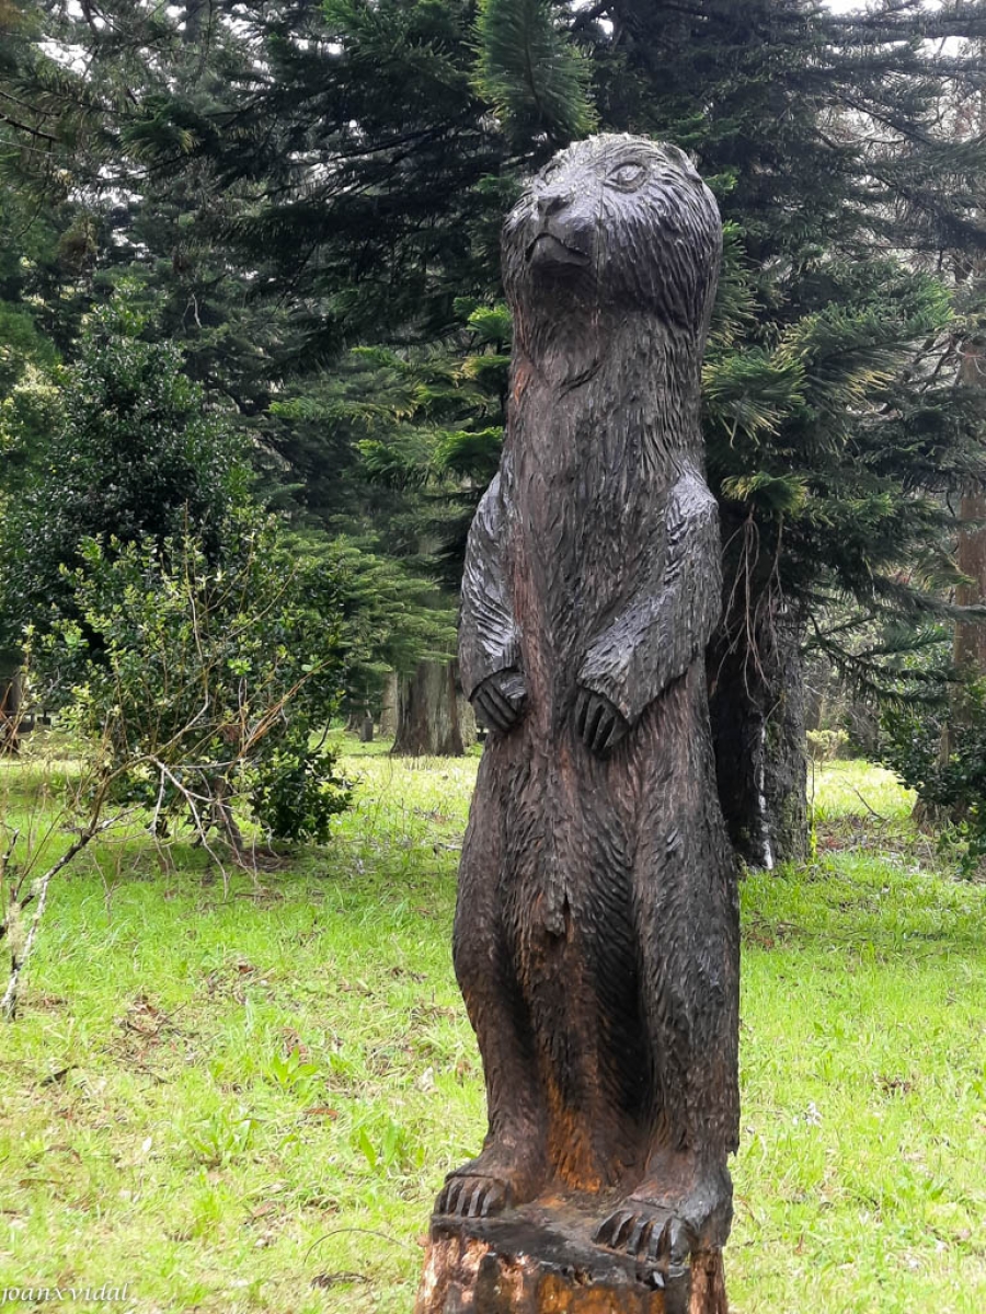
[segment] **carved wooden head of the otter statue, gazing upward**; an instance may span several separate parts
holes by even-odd
[[[552,319],[643,311],[701,351],[720,254],[719,210],[694,166],[643,137],[560,151],[504,226],[507,297],[535,335]]]

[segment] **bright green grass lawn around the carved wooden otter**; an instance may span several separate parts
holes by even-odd
[[[335,842],[256,882],[130,838],[53,886],[0,1028],[0,1298],[411,1310],[484,1131],[450,953],[476,759],[343,767]],[[26,820],[32,779],[0,773]],[[816,861],[743,886],[732,1307],[981,1314],[986,887],[936,870],[886,773],[815,788]]]

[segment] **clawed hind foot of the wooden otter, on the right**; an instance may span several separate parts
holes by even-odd
[[[659,1265],[684,1264],[695,1251],[726,1244],[732,1221],[732,1184],[724,1169],[702,1175],[685,1190],[648,1175],[596,1231],[597,1246]]]

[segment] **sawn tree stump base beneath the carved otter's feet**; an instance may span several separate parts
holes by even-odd
[[[414,1314],[727,1314],[722,1251],[661,1269],[593,1244],[599,1201],[434,1215]]]

